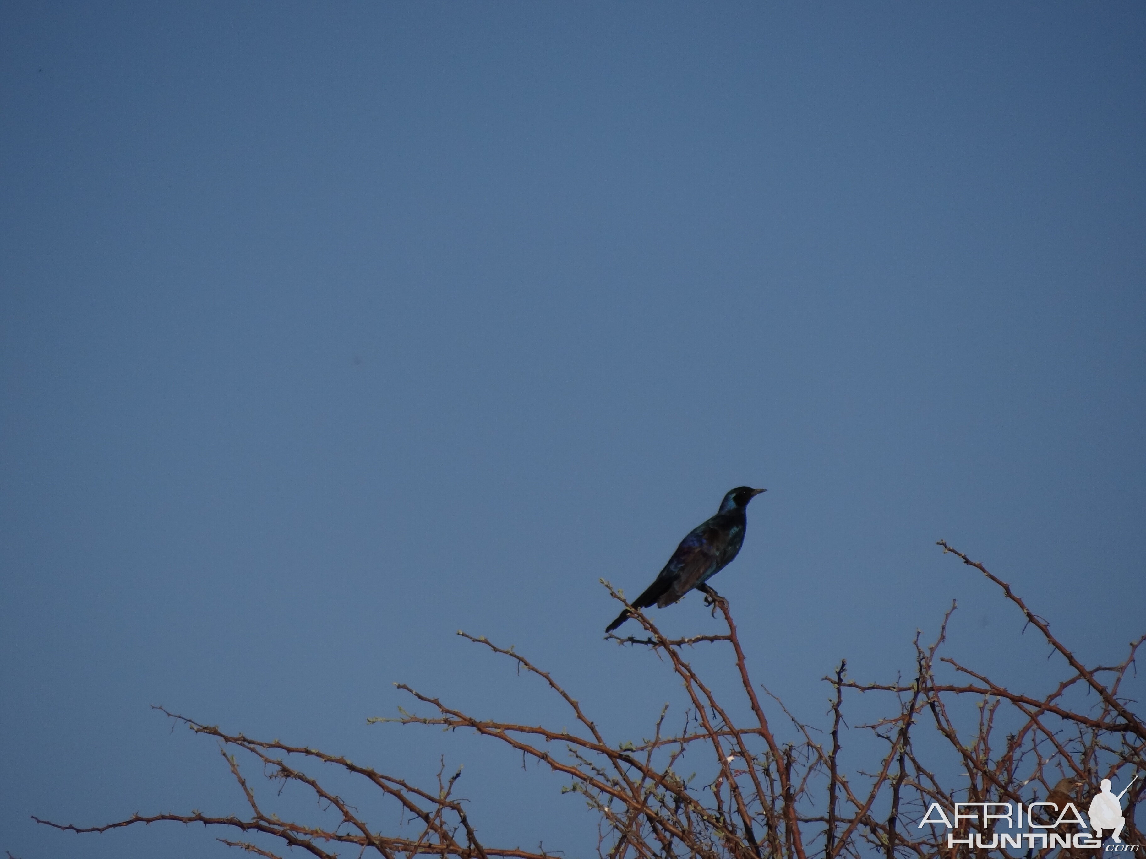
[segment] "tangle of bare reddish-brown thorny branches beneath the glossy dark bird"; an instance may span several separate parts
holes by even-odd
[[[1135,657],[1146,636],[1130,643],[1118,664],[1088,668],[1051,635],[1050,624],[1028,608],[1010,584],[945,542],[939,545],[997,584],[1022,612],[1026,623],[1066,660],[1070,673],[1055,688],[1045,695],[1012,691],[982,671],[939,656],[956,608],[952,604],[931,645],[920,644],[917,633],[910,683],[858,683],[848,678],[847,663],[840,661],[833,675],[824,678],[832,696],[823,741],[817,728],[801,723],[764,689],[787,719],[783,723],[788,730],[785,735],[776,732],[761,703],[727,600],[717,598],[713,608],[725,631],[669,639],[603,582],[644,630],[644,637],[607,638],[620,646],[654,653],[685,693],[683,714],[672,717],[666,704],[651,738],[641,742],[607,739],[581,703],[548,671],[512,647],[464,632],[458,635],[497,657],[511,660],[518,672],[541,678],[572,712],[574,730],[479,718],[406,684],[395,685],[429,711],[418,715],[399,708],[397,718],[370,722],[472,731],[503,743],[520,754],[523,761],[533,759],[562,774],[568,780],[564,791],[578,794],[599,817],[601,859],[858,859],[876,854],[881,859],[924,859],[941,852],[944,857],[950,852],[952,859],[971,859],[972,853],[974,859],[1002,857],[1002,848],[948,848],[945,827],[933,819],[921,822],[927,809],[932,803],[950,809],[956,802],[1053,802],[1057,809],[1073,802],[1084,809],[1084,798],[1098,791],[1101,779],[1129,782],[1133,772],[1146,766],[1146,726],[1132,712],[1123,687],[1136,676]],[[698,646],[727,648],[720,652],[736,667],[738,688],[717,689],[701,678],[685,659],[686,652]],[[939,679],[940,667],[958,681]],[[1080,691],[1097,694],[1085,699]],[[889,695],[892,708],[872,724],[851,728],[843,715],[846,693]],[[351,850],[355,856],[370,852],[385,859],[552,856],[540,845],[523,850],[481,843],[466,814],[465,801],[454,797],[461,770],[447,779],[445,763],[438,772],[437,788],[424,789],[344,756],[278,740],[254,740],[156,709],[193,732],[215,739],[231,778],[243,791],[245,812],[133,814],[91,827],[34,819],[74,833],[103,833],[160,821],[222,827],[256,841],[219,838],[221,843],[270,859],[280,859],[270,850],[276,843],[280,849],[298,848],[321,859],[336,857],[339,850]],[[741,723],[733,718],[738,712],[749,716]],[[677,726],[669,730],[672,724]],[[933,730],[920,735],[927,726]],[[859,742],[858,736],[848,740],[848,747],[856,749],[849,752],[855,759],[843,758],[846,731],[868,731],[874,741],[885,744],[884,751],[874,756],[873,772],[863,769],[865,759],[873,756],[864,751],[870,743]],[[319,802],[319,819],[290,821],[267,811],[241,769],[243,759],[260,766],[264,777],[277,783],[272,796],[286,786],[308,793]],[[692,775],[681,774],[685,763],[696,771]],[[359,813],[359,805],[313,774],[313,767],[319,765],[350,777],[366,791],[380,793],[384,801],[401,811],[401,822],[379,828],[367,820]],[[1135,810],[1144,789],[1146,780],[1140,779],[1125,795],[1123,841],[1131,844],[1141,844]],[[960,837],[992,835],[991,827],[980,825],[978,819],[970,825],[966,820],[957,822]],[[1077,850],[1067,853],[1069,859],[1082,856]],[[1028,852],[1028,859],[1033,856]]]

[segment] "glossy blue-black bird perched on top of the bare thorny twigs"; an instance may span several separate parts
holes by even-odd
[[[657,608],[664,608],[676,602],[693,588],[705,594],[705,605],[714,602],[717,593],[707,582],[731,564],[740,551],[747,526],[745,510],[748,502],[766,491],[768,490],[753,489],[749,486],[729,489],[724,501],[720,503],[716,515],[689,531],[656,581],[633,600],[633,607],[647,608],[656,605]],[[605,628],[605,632],[612,632],[631,616],[626,608]]]

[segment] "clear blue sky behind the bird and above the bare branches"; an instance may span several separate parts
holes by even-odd
[[[1058,670],[940,537],[1109,664],[1144,180],[1139,2],[0,5],[0,849],[226,853],[29,820],[240,810],[159,703],[446,752],[492,841],[586,856],[558,780],[366,718],[566,718],[463,628],[638,738],[675,684],[597,580],[741,483],[714,584],[809,719],[952,598],[968,662]]]

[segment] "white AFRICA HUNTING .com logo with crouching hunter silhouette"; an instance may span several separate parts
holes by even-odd
[[[1130,780],[1133,785],[1138,780],[1135,775]],[[1090,818],[1090,826],[1083,820],[1082,814],[1073,802],[1046,802],[1029,803],[1023,807],[1022,803],[956,803],[951,809],[951,817],[948,817],[939,803],[932,803],[919,826],[927,823],[942,823],[948,829],[961,830],[967,837],[957,838],[956,832],[947,834],[947,845],[953,848],[966,845],[975,850],[997,850],[999,848],[1015,848],[1027,850],[1046,850],[1053,848],[1101,848],[1102,833],[1109,832],[1113,843],[1106,845],[1107,851],[1137,851],[1137,844],[1123,844],[1122,827],[1125,826],[1125,818],[1122,817],[1122,796],[1130,789],[1127,785],[1121,793],[1110,790],[1110,780],[1102,779],[1101,793],[1091,798],[1086,809],[1086,817]],[[1060,807],[1061,806],[1061,807]],[[1004,811],[1005,810],[1005,811]],[[1057,815],[1057,817],[1055,817]],[[1054,822],[1050,822],[1054,818]],[[1026,819],[1026,825],[1023,820]],[[1006,821],[1010,833],[1000,833],[995,827]],[[965,822],[967,821],[967,822]],[[974,825],[976,828],[991,833],[990,842],[983,841],[982,832],[972,835],[967,832],[967,826]],[[1060,829],[1061,827],[1061,829]],[[1015,829],[1034,829],[1036,832],[1014,832]],[[1081,832],[1092,829],[1090,832]]]

